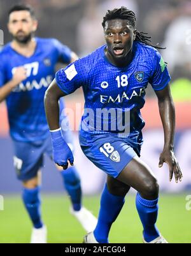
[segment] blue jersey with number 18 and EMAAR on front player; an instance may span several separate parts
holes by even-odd
[[[83,87],[81,133],[86,139],[81,144],[85,145],[85,140],[88,144],[92,134],[117,134],[129,138],[137,148],[143,143],[145,122],[140,110],[145,104],[145,89],[150,83],[154,90],[162,90],[171,78],[160,53],[151,46],[135,41],[132,62],[125,68],[113,66],[104,55],[105,48],[60,69],[56,82],[65,94]]]

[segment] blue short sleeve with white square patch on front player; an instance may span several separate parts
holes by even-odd
[[[76,60],[73,64],[69,64],[69,66],[60,69],[56,73],[55,80],[57,85],[65,94],[71,94],[87,84],[89,69],[85,58]]]

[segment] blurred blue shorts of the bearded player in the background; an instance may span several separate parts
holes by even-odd
[[[62,132],[63,137],[71,150],[74,150],[73,139],[70,131]],[[13,140],[14,166],[18,180],[27,181],[36,177],[39,169],[43,167],[45,154],[52,159],[52,141],[48,136],[43,141],[31,143]]]

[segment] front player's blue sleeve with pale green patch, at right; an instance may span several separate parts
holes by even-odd
[[[153,90],[163,90],[171,81],[171,76],[169,75],[164,59],[162,59],[162,56],[157,50],[154,52],[153,59],[153,72],[149,82]]]

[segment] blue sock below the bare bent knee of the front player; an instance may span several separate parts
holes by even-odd
[[[143,199],[139,193],[136,197],[136,207],[143,224],[143,236],[147,243],[160,236],[159,230],[155,225],[159,210],[158,201],[159,199],[153,201]]]

